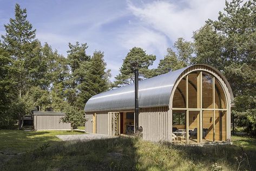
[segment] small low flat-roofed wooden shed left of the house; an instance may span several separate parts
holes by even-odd
[[[71,130],[70,123],[63,123],[64,113],[55,111],[34,111],[35,130]]]

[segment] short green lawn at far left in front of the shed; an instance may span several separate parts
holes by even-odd
[[[41,146],[45,142],[54,143],[61,140],[56,135],[84,134],[78,131],[24,131],[0,130],[0,151],[26,152]]]

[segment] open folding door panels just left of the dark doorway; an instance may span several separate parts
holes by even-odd
[[[120,113],[109,112],[109,135],[117,136],[120,135]]]

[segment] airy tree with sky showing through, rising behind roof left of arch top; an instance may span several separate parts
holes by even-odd
[[[178,38],[174,43],[174,49],[168,48],[167,55],[160,60],[155,75],[165,74],[169,71],[187,67],[194,59],[194,47],[192,42]]]

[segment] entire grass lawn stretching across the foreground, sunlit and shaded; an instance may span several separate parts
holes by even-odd
[[[1,140],[7,137],[1,149],[26,152],[0,163],[0,170],[256,170],[256,139],[248,137],[233,136],[233,145],[200,147],[128,137],[89,142],[63,142],[55,137],[72,134],[68,131],[0,133]]]

